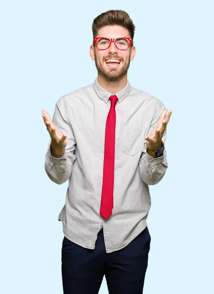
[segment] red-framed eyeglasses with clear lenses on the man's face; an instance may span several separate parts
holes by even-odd
[[[106,37],[99,37],[99,38],[94,38],[96,48],[99,50],[106,50],[108,49],[112,42],[115,43],[116,48],[119,50],[127,50],[130,46],[130,43],[132,41],[131,38],[127,37],[120,37],[120,38],[106,38]]]

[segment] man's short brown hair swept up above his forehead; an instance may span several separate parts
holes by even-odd
[[[98,34],[98,30],[105,25],[121,25],[125,27],[132,38],[131,46],[133,46],[133,38],[135,33],[135,25],[130,16],[124,10],[109,10],[98,15],[92,24],[93,44],[95,46],[94,38]]]

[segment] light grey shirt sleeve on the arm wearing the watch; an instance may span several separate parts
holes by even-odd
[[[153,120],[148,131],[148,136],[150,135],[153,128],[159,123],[161,113],[164,109],[165,105],[157,99]],[[139,160],[138,166],[140,168],[141,178],[147,185],[155,185],[159,183],[166,173],[166,169],[168,167],[165,146],[166,130],[164,131],[162,141],[164,142],[163,156],[155,158],[149,155],[144,148]]]

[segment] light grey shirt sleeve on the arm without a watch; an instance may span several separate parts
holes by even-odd
[[[55,158],[51,155],[50,143],[48,144],[48,151],[45,157],[45,171],[48,177],[56,184],[65,183],[71,176],[72,165],[76,159],[74,154],[76,141],[69,120],[68,106],[65,97],[59,98],[56,102],[52,123],[54,123],[58,129],[67,135],[65,153],[61,158]]]

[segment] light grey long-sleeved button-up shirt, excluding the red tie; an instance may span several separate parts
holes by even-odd
[[[118,93],[115,130],[114,208],[105,220],[100,214],[105,125],[112,93],[94,83],[62,96],[52,122],[67,135],[61,158],[50,152],[45,159],[48,177],[57,184],[69,180],[65,205],[58,220],[72,242],[94,249],[103,228],[106,253],[127,246],[147,226],[151,206],[148,185],[157,184],[167,169],[164,155],[150,156],[145,136],[159,122],[165,105],[157,98],[127,85]],[[166,130],[162,138],[166,141]]]

